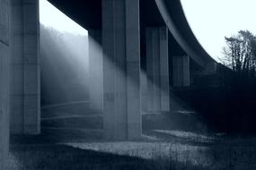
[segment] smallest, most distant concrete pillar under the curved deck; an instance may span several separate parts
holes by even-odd
[[[173,86],[190,86],[190,56],[172,56]]]

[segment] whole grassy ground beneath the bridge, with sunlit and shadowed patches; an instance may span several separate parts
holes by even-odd
[[[188,110],[143,115],[137,141],[103,140],[101,115],[76,111],[44,110],[41,135],[12,136],[7,169],[256,169],[256,138],[208,132]]]

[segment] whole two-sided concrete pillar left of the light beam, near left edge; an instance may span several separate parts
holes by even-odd
[[[38,0],[12,0],[11,131],[40,133]]]

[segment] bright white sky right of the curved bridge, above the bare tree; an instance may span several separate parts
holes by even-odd
[[[225,36],[239,30],[256,34],[256,0],[181,0],[190,28],[207,53],[223,57]]]

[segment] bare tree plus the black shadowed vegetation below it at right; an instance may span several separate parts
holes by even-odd
[[[225,66],[218,64],[212,75],[216,85],[207,86],[209,75],[205,75],[199,79],[199,86],[176,89],[175,93],[204,117],[210,129],[255,135],[256,36],[240,30],[225,41]]]

